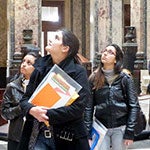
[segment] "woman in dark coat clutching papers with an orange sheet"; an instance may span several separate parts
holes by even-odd
[[[46,50],[49,55],[44,56],[35,64],[29,86],[21,100],[21,107],[27,120],[20,149],[89,150],[83,118],[87,103],[86,97],[89,96],[89,85],[86,70],[77,59],[79,40],[71,31],[62,29],[51,37]],[[54,64],[57,64],[82,86],[79,98],[71,105],[57,109],[28,103],[32,93]],[[50,129],[45,126],[45,121],[49,121]],[[32,130],[29,129],[30,127],[33,127]]]

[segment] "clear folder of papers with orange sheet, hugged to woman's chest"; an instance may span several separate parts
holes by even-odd
[[[70,105],[79,97],[81,88],[81,85],[55,64],[36,88],[29,102],[49,108]]]

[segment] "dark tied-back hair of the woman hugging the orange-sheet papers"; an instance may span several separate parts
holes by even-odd
[[[60,29],[59,31],[62,32],[63,35],[63,45],[64,46],[69,46],[69,53],[68,53],[68,57],[72,57],[75,59],[76,62],[80,62],[79,61],[79,57],[77,56],[77,53],[79,51],[79,40],[76,37],[76,35],[70,31],[67,30],[65,28]]]

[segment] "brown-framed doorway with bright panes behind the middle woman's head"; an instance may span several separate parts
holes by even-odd
[[[46,55],[45,47],[49,37],[64,27],[64,1],[42,1],[42,56]]]

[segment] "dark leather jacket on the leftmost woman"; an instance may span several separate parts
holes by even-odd
[[[19,142],[23,126],[23,115],[19,102],[24,94],[22,77],[7,84],[2,101],[2,117],[10,120],[8,139]]]

